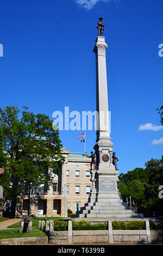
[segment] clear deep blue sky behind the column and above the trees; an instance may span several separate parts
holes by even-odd
[[[163,104],[162,0],[5,0],[1,2],[1,107],[23,105],[52,119],[54,111],[96,110],[93,47],[105,27],[111,141],[119,172],[163,153],[155,111]],[[140,125],[141,130],[139,130]],[[142,128],[143,127],[143,128]],[[83,131],[60,131],[62,144],[84,152]],[[152,142],[155,140],[155,144]],[[86,131],[86,151],[96,131]]]

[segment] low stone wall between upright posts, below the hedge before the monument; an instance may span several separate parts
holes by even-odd
[[[163,230],[151,230],[152,243],[163,243]],[[108,230],[73,230],[72,244],[108,243]],[[113,230],[114,243],[148,243],[146,230]],[[68,231],[50,231],[49,243],[67,245]]]

